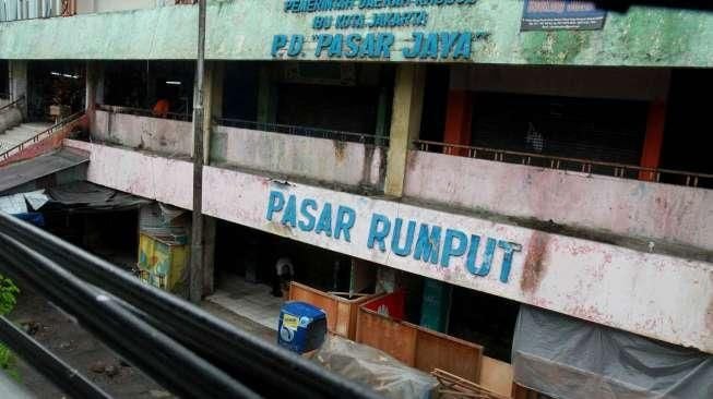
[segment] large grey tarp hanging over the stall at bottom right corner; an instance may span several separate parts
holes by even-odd
[[[552,398],[713,398],[713,355],[522,305],[514,379]]]

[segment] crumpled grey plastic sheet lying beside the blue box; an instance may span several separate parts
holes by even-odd
[[[387,353],[336,336],[329,337],[312,361],[348,379],[371,387],[384,398],[428,399],[438,380]]]

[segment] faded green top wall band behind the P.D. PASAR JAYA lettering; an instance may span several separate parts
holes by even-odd
[[[520,33],[522,0],[475,5],[409,8],[429,13],[425,28],[395,28],[391,61],[403,61],[414,31],[487,32],[473,43],[472,62],[512,64],[712,66],[713,13],[631,8],[610,12],[603,31]],[[195,53],[197,7],[19,21],[0,24],[1,59],[190,59]],[[359,12],[355,10],[353,12]],[[314,59],[314,15],[287,14],[283,1],[213,1],[209,7],[210,59],[270,60],[275,34],[304,34],[299,59]],[[337,33],[332,28],[329,33]],[[355,31],[341,31],[354,33]]]

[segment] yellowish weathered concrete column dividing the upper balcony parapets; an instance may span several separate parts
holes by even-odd
[[[424,108],[425,70],[419,65],[400,64],[391,114],[391,135],[387,158],[384,194],[401,197],[404,192],[406,158],[412,142],[418,138]]]

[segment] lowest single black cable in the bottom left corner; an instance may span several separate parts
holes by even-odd
[[[10,347],[47,379],[54,382],[64,394],[73,398],[110,399],[102,388],[80,372],[45,349],[25,331],[0,316],[0,341]]]

